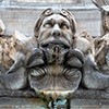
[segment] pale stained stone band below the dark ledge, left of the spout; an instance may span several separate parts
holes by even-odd
[[[38,98],[0,97],[0,109],[47,109],[47,105]]]

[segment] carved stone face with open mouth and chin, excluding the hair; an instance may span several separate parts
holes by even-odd
[[[48,62],[63,62],[64,53],[72,45],[73,32],[68,19],[60,14],[45,17],[39,28],[39,47],[48,52]],[[56,58],[56,59],[55,59]]]

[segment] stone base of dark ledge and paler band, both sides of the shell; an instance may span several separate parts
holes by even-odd
[[[0,109],[48,109],[47,104],[33,90],[0,89]],[[78,89],[70,100],[70,109],[109,109],[109,92]]]

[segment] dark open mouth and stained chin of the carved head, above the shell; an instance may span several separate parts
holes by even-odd
[[[43,41],[39,48],[45,52],[48,63],[62,64],[70,45],[62,40],[51,40],[49,43]]]

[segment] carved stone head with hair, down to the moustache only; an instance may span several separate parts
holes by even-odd
[[[37,20],[34,32],[40,44],[57,39],[70,46],[75,34],[75,20],[68,10],[47,9]]]

